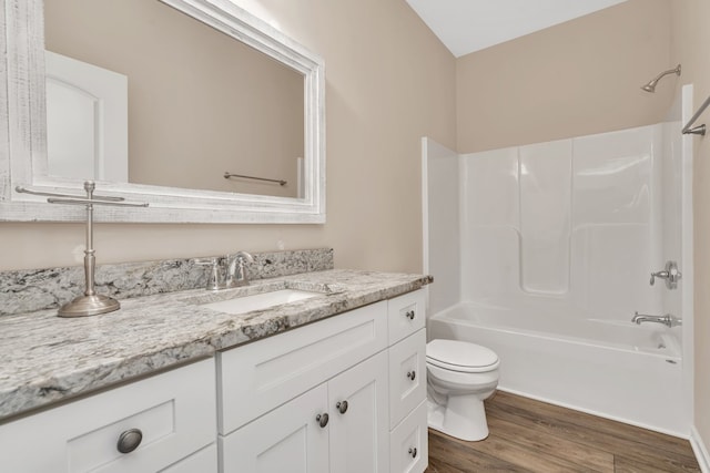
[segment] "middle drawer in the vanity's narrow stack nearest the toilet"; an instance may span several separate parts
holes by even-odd
[[[426,399],[426,330],[389,347],[389,428]]]

